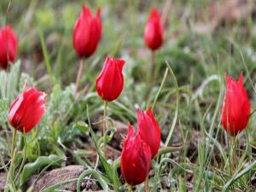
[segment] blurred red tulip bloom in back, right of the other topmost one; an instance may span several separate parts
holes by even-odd
[[[159,49],[163,43],[164,30],[157,9],[152,9],[144,31],[144,41],[151,50]]]

